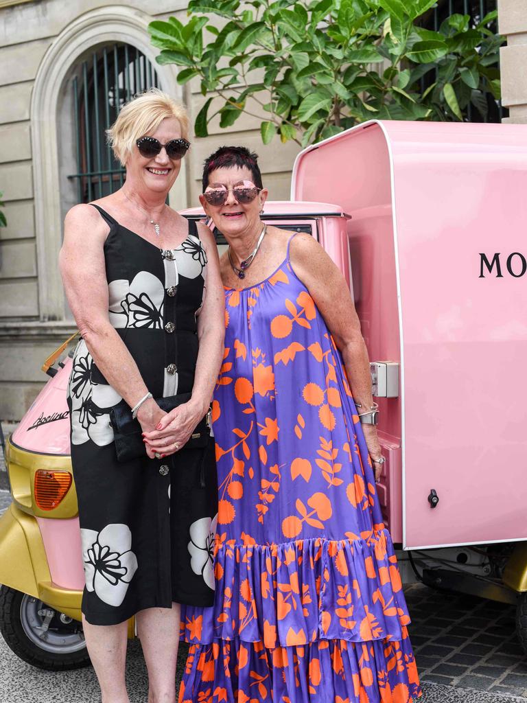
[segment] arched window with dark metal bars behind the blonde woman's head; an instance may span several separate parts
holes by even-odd
[[[136,93],[159,87],[152,63],[134,46],[114,44],[94,51],[73,79],[77,134],[78,202],[90,202],[117,191],[125,170],[106,141],[108,129],[124,103]]]

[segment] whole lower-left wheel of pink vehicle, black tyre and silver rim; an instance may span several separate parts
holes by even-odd
[[[88,666],[82,624],[38,598],[0,587],[0,633],[27,664],[47,671]]]

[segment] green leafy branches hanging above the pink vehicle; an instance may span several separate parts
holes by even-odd
[[[486,117],[488,96],[500,98],[497,13],[451,15],[431,31],[420,22],[435,4],[191,0],[186,24],[171,17],[149,30],[157,62],[181,66],[181,84],[200,82],[197,136],[216,116],[224,128],[245,113],[264,143],[279,134],[306,146],[371,117],[464,120],[469,105]]]

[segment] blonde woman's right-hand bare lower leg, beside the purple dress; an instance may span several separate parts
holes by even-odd
[[[147,608],[136,615],[137,629],[148,669],[148,703],[176,703],[181,607]]]

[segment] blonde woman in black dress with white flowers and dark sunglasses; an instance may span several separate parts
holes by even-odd
[[[210,231],[166,204],[189,146],[184,108],[152,89],[124,106],[109,136],[124,186],[67,213],[60,252],[82,335],[68,400],[84,632],[103,703],[128,703],[126,621],[135,615],[148,701],[171,703],[179,604],[214,600],[214,442],[185,445],[221,363],[223,288]],[[161,399],[181,394],[188,401],[162,410]],[[143,435],[154,431],[125,461],[110,416],[123,405]]]

